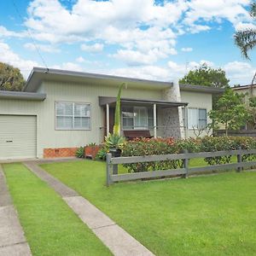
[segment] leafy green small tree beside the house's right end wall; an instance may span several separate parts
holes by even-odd
[[[240,129],[249,118],[244,104],[244,95],[239,95],[234,90],[226,88],[224,94],[216,103],[216,109],[210,111],[209,117],[214,122],[224,125],[226,136],[228,136],[229,130]]]

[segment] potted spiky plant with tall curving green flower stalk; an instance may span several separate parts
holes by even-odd
[[[114,112],[114,125],[113,125],[113,134],[108,134],[105,137],[105,145],[109,149],[109,152],[113,157],[119,157],[121,155],[121,148],[125,143],[125,137],[121,136],[120,131],[120,102],[121,102],[121,91],[125,83],[119,86],[119,92],[115,104]]]

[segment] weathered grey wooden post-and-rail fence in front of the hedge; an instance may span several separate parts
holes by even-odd
[[[141,178],[149,177],[170,177],[175,175],[182,175],[182,177],[188,177],[189,174],[195,172],[209,172],[215,170],[229,170],[236,169],[240,172],[243,167],[256,166],[256,161],[242,161],[242,155],[245,154],[256,154],[256,149],[251,150],[229,150],[229,151],[216,151],[216,152],[200,152],[200,153],[188,153],[184,151],[183,154],[159,154],[159,155],[144,155],[144,156],[128,156],[128,157],[112,157],[111,154],[107,154],[107,185],[119,181],[129,181]],[[189,167],[189,160],[194,158],[206,158],[216,156],[228,156],[236,155],[236,163],[228,163],[213,166],[201,166],[201,167]],[[150,172],[133,172],[126,174],[118,174],[119,164],[134,164],[134,163],[145,163],[154,161],[165,161],[165,160],[183,160],[182,168],[171,169],[171,170],[154,170]]]

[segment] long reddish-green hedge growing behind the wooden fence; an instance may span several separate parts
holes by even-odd
[[[189,153],[215,152],[235,149],[256,148],[256,139],[253,137],[203,137],[189,138],[174,141],[173,138],[138,138],[125,143],[122,156],[141,156],[152,154],[180,154],[186,149]],[[255,154],[244,154],[242,161],[255,159]],[[207,157],[208,165],[227,164],[231,161],[230,155]],[[128,172],[148,172],[153,170],[177,169],[183,166],[182,160],[163,160],[146,163],[132,163],[124,165]]]

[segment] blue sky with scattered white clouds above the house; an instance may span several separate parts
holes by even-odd
[[[249,0],[9,0],[0,2],[0,61],[139,79],[175,81],[207,63],[230,85],[256,71],[234,33],[256,28]]]

